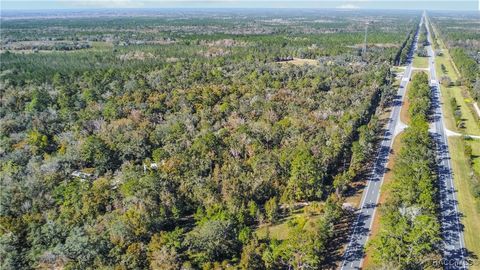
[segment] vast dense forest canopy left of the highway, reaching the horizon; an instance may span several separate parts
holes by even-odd
[[[371,155],[418,21],[2,20],[1,268],[332,263],[342,193]],[[314,222],[257,236],[304,202]]]

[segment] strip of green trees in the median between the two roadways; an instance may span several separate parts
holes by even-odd
[[[409,99],[416,109],[409,111],[412,120],[401,135],[380,231],[369,243],[375,263],[392,269],[428,268],[440,257],[435,152],[426,120],[428,88],[426,73],[413,77]]]

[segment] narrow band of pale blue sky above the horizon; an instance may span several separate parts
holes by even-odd
[[[0,0],[0,8],[88,9],[88,8],[346,8],[479,10],[480,0]]]

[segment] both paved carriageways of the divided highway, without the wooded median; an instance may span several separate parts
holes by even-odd
[[[422,24],[429,25],[426,14],[422,16],[419,29]],[[427,40],[432,44],[430,29],[427,27]],[[412,73],[413,53],[417,47],[418,31],[415,35],[415,46],[409,52],[408,65],[404,77],[400,83],[392,112],[388,120],[387,131],[383,137],[380,150],[375,161],[370,179],[367,181],[358,210],[358,216],[353,224],[350,242],[345,251],[341,269],[361,269],[363,264],[364,247],[368,241],[373,224],[373,218],[380,197],[380,187],[383,182],[388,157],[393,139],[401,127],[400,111],[405,95],[405,89],[410,81]],[[440,221],[443,238],[443,261],[438,266],[444,269],[467,269],[466,249],[463,238],[463,229],[460,223],[459,211],[456,199],[456,190],[453,183],[450,153],[448,151],[446,129],[443,122],[441,93],[435,72],[435,53],[431,45],[425,46],[428,52],[428,64],[430,75],[430,87],[433,91],[432,98],[432,127],[430,129],[436,144],[439,192],[440,192]]]

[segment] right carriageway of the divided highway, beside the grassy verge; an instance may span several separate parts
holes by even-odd
[[[429,20],[424,14],[424,21]],[[428,43],[432,44],[430,28],[427,27]],[[431,45],[425,46],[428,51],[428,65],[430,69],[430,88],[433,91],[433,138],[437,146],[437,164],[440,191],[440,221],[442,224],[443,267],[444,269],[467,269],[465,261],[465,242],[463,229],[460,223],[456,190],[453,184],[452,166],[448,151],[447,135],[443,123],[440,86],[435,72],[435,52]]]

